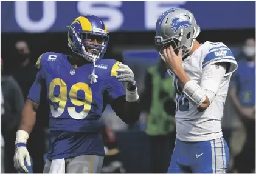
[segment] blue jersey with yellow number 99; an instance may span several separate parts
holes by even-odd
[[[97,82],[90,84],[92,63],[74,68],[67,55],[53,52],[38,58],[39,72],[27,98],[39,103],[42,85],[46,84],[50,108],[47,159],[105,154],[99,134],[100,116],[106,104],[125,95],[122,82],[116,78],[118,64],[112,59],[97,60]]]

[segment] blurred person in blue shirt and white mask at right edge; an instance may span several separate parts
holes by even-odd
[[[238,173],[252,173],[255,170],[255,39],[247,39],[243,55],[232,77],[230,98],[244,124],[247,138],[235,157],[234,169]]]

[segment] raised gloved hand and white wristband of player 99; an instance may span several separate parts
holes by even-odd
[[[117,72],[120,72],[121,75],[117,76],[117,79],[119,79],[120,82],[127,82],[127,90],[126,90],[126,101],[128,102],[135,102],[139,99],[139,95],[137,92],[137,85],[134,78],[133,71],[124,64],[119,64],[119,69],[117,69]]]

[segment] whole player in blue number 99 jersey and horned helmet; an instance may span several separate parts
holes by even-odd
[[[28,172],[26,142],[35,124],[35,112],[43,87],[49,104],[49,150],[44,173],[100,173],[105,155],[100,135],[100,116],[106,104],[124,122],[133,124],[140,115],[139,95],[132,70],[113,59],[102,59],[109,35],[94,15],[76,18],[68,27],[72,56],[43,53],[39,70],[22,110],[16,133],[14,164]],[[124,90],[122,82],[127,83]],[[46,85],[46,86],[45,86]]]

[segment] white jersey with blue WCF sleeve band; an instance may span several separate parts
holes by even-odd
[[[176,92],[176,132],[181,141],[210,141],[223,136],[221,118],[229,89],[232,72],[237,69],[237,62],[231,50],[221,42],[205,42],[192,55],[182,61],[182,67],[190,80],[200,85],[202,70],[216,62],[229,62],[226,74],[221,81],[216,96],[204,112],[198,112],[197,105],[188,99],[179,89],[178,79],[173,78]],[[168,70],[173,76],[173,73]],[[209,89],[210,89],[209,84]]]

